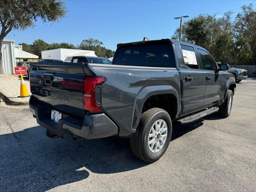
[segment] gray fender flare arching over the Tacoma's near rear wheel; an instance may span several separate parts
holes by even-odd
[[[178,114],[180,114],[181,110],[181,104],[180,104],[180,94],[178,94],[178,91],[174,86],[171,85],[156,85],[156,86],[148,86],[142,89],[134,102],[134,111],[133,111],[133,117],[132,117],[132,129],[136,130],[139,122],[140,122],[140,116],[142,114],[142,109],[144,106],[144,103],[150,96],[159,95],[159,94],[173,94],[177,99],[177,113],[176,118]]]

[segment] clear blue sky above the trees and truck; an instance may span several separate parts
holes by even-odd
[[[48,43],[68,42],[80,44],[83,39],[96,38],[106,48],[116,50],[116,44],[142,40],[170,38],[179,26],[174,17],[199,14],[234,12],[233,18],[244,4],[255,0],[180,0],[180,1],[85,1],[67,0],[68,14],[55,23],[36,22],[36,27],[26,31],[12,31],[6,39],[31,44],[36,39]],[[185,18],[187,20],[187,18]]]

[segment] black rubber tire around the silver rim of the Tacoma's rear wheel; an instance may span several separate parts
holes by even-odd
[[[148,136],[151,127],[157,120],[164,120],[167,125],[167,137],[162,148],[158,152],[150,151],[148,146]],[[172,136],[172,121],[170,115],[163,109],[151,108],[140,117],[137,131],[130,137],[130,146],[133,154],[145,162],[155,162],[166,152]]]

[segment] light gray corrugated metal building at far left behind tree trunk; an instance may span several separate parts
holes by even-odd
[[[13,74],[13,68],[16,66],[14,40],[4,39],[2,42],[2,63],[4,74]]]

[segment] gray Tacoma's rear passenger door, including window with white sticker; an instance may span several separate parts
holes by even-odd
[[[182,76],[182,114],[187,114],[204,106],[205,76],[199,68],[194,46],[176,45]]]

